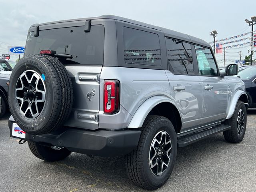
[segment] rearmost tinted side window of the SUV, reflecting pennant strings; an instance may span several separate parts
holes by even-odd
[[[161,65],[160,42],[157,34],[123,28],[124,61],[130,64]]]

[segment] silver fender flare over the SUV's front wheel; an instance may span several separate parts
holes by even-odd
[[[231,118],[232,115],[234,114],[238,100],[244,102],[246,109],[248,108],[249,100],[248,100],[248,96],[247,96],[246,92],[244,92],[242,90],[238,90],[232,97],[232,100],[230,101],[230,105],[228,106],[228,110],[227,110],[226,119]]]

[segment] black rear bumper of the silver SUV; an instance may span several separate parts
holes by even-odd
[[[9,120],[10,136],[12,137],[12,123]],[[128,154],[138,145],[140,130],[96,130],[89,131],[78,128],[63,128],[59,132],[43,135],[26,133],[27,141],[41,142],[62,146],[72,152],[95,156],[121,156]]]

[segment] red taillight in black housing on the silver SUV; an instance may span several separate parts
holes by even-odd
[[[104,81],[104,114],[115,114],[119,111],[120,83],[118,80]]]

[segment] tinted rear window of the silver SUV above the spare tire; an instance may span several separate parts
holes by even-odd
[[[29,33],[25,55],[39,54],[40,50],[77,56],[59,58],[63,64],[102,65],[104,26],[91,26],[90,32],[84,32],[84,26],[40,30],[38,37]]]

